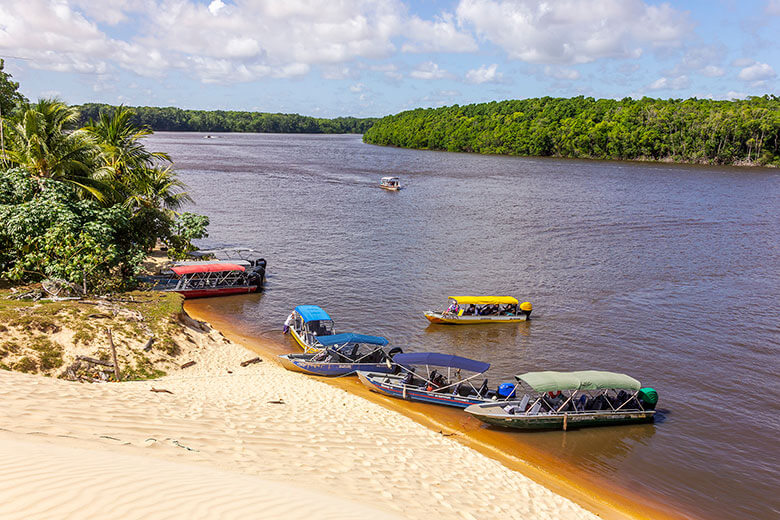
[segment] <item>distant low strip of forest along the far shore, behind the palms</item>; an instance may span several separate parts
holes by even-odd
[[[98,119],[101,112],[116,107],[87,103],[74,107],[80,113],[79,123]],[[259,132],[288,134],[362,134],[373,119],[337,117],[320,119],[298,114],[269,114],[233,110],[184,110],[175,107],[128,107],[136,126],[148,126],[156,132]]]

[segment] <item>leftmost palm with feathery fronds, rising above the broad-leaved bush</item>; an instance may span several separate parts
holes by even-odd
[[[84,130],[68,131],[78,112],[57,99],[41,99],[8,125],[5,159],[26,169],[45,189],[44,179],[68,183],[82,194],[105,199],[106,186],[96,176],[98,148]]]

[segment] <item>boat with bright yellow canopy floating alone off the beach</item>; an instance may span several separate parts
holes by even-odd
[[[514,323],[529,319],[533,310],[531,302],[519,303],[512,296],[450,296],[448,300],[447,310],[425,312],[428,321],[452,325]]]

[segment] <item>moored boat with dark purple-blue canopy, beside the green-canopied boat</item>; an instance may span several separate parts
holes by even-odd
[[[490,368],[489,363],[482,361],[436,352],[414,352],[397,354],[393,363],[399,367],[398,373],[361,371],[358,377],[364,385],[381,394],[458,408],[514,395],[512,383],[502,384],[497,390],[488,389],[487,379],[478,386],[473,384],[475,378]],[[418,373],[417,367],[423,366],[425,374],[422,370]],[[472,375],[463,377],[462,371]]]

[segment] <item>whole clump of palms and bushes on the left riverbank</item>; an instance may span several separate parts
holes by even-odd
[[[158,241],[181,256],[207,236],[207,217],[180,213],[185,186],[132,110],[82,126],[59,100],[24,99],[2,61],[0,107],[0,277],[125,289]]]

